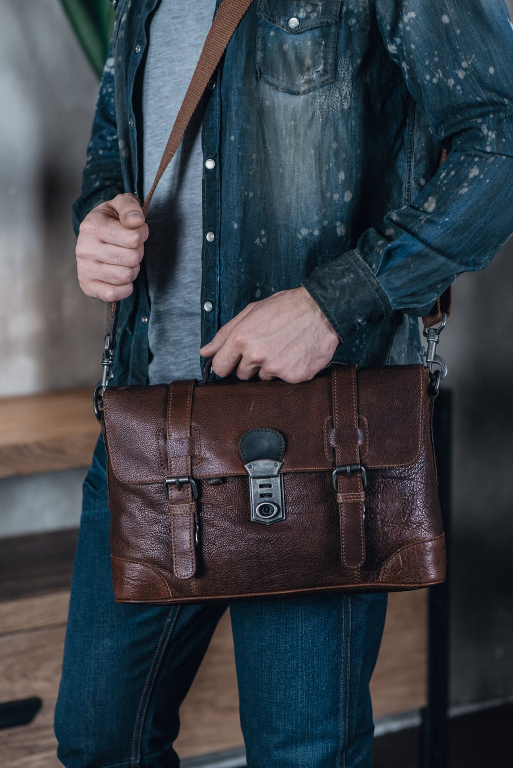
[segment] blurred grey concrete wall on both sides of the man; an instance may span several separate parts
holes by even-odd
[[[58,0],[4,2],[0,395],[98,378],[104,307],[78,289],[70,223],[97,88]],[[455,392],[452,698],[458,704],[513,694],[512,256],[510,241],[484,273],[458,278],[440,349]],[[0,481],[0,535],[76,525],[83,475]]]

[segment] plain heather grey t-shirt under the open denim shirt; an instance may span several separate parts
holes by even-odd
[[[143,194],[146,197],[184,99],[215,0],[162,0],[151,18],[142,91]],[[201,109],[161,178],[147,216],[144,247],[151,313],[150,384],[200,376]]]

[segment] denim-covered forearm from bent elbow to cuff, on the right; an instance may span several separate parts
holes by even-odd
[[[390,211],[303,285],[344,341],[396,310],[427,313],[458,274],[484,269],[511,233],[513,157],[456,151],[412,204]]]

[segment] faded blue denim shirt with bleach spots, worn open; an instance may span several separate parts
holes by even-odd
[[[158,2],[117,4],[77,233],[102,201],[141,197],[141,62]],[[513,233],[504,0],[254,0],[203,108],[202,343],[303,284],[339,336],[335,360],[418,362],[418,316]],[[115,384],[147,382],[150,312],[142,269],[121,302]]]

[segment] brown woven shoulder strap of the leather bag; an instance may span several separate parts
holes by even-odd
[[[253,0],[222,0],[217,9],[217,13],[213,17],[212,25],[208,31],[207,38],[205,39],[196,69],[194,70],[189,87],[187,88],[184,101],[181,104],[177,118],[174,121],[173,128],[167,140],[161,163],[157,169],[157,174],[155,174],[154,183],[151,185],[151,190],[148,192],[142,205],[144,217],[147,216],[151,198],[154,195],[157,184],[161,180],[164,170],[166,170],[180,146],[180,141],[182,141],[182,138],[184,137],[187,125],[190,123],[190,119],[201,101],[201,97],[207,88],[210,78],[212,78],[213,73],[216,71],[217,65],[219,65],[223,53],[226,51],[227,45],[233,37],[233,33],[246,15],[252,2]],[[445,162],[445,157],[447,157],[447,152],[443,150],[440,164]],[[452,304],[451,291],[451,286],[449,286],[442,298],[435,304],[431,313],[423,318],[426,328],[431,328],[442,322],[444,313],[447,317],[449,316]],[[103,410],[102,395],[104,389],[108,386],[108,382],[112,379],[111,369],[114,363],[118,314],[119,302],[113,301],[109,308],[104,353],[101,359],[103,373],[93,392],[94,413],[100,422],[101,411]]]

